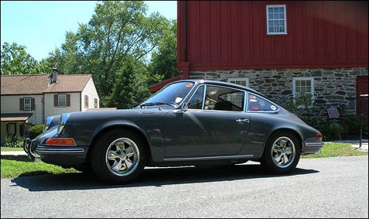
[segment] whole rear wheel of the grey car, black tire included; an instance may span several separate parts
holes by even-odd
[[[289,148],[291,148],[289,150]],[[300,160],[301,143],[291,132],[275,132],[266,143],[261,165],[271,173],[290,173]]]

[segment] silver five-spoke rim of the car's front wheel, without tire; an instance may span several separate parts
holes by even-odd
[[[116,139],[110,143],[105,161],[114,175],[119,177],[130,175],[139,165],[139,149],[131,139]]]

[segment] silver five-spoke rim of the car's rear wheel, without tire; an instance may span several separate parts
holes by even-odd
[[[287,168],[295,160],[295,145],[288,137],[280,137],[274,141],[271,153],[275,165]]]

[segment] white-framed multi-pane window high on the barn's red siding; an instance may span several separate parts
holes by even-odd
[[[266,6],[266,30],[268,35],[286,34],[286,5]]]

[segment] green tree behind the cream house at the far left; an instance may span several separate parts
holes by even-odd
[[[50,71],[26,52],[26,46],[5,42],[1,46],[1,74],[35,74]]]

